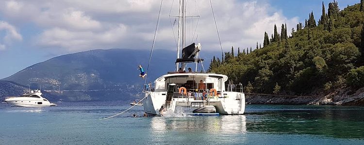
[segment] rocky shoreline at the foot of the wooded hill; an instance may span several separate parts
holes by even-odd
[[[327,94],[320,94],[315,96],[282,97],[282,96],[246,94],[246,103],[275,104],[275,105],[341,105],[341,106],[364,105],[364,87],[356,91],[352,91],[349,88],[340,88]]]

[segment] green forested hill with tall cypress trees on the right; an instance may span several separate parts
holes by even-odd
[[[327,10],[323,3],[320,17],[311,12],[288,34],[284,24],[272,24],[274,34],[265,33],[263,47],[257,43],[237,55],[232,48],[221,61],[211,61],[210,72],[243,83],[245,92],[314,95],[364,87],[363,6],[361,0],[340,10],[333,1]]]

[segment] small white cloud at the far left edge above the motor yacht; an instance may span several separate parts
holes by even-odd
[[[21,41],[23,39],[22,36],[17,32],[17,29],[7,22],[0,21],[0,32],[1,31],[5,31],[5,36],[0,42],[7,45],[10,45],[13,40]],[[5,50],[5,44],[0,43],[0,50]]]

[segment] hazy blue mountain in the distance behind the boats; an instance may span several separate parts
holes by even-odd
[[[144,84],[137,66],[141,64],[147,71],[149,54],[150,51],[132,49],[67,54],[34,64],[2,80],[41,87],[43,92],[60,96],[64,101],[133,100],[141,97]],[[209,61],[212,54],[201,54],[201,58]],[[174,51],[154,50],[148,82],[174,71],[175,59]]]

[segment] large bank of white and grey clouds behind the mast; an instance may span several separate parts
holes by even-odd
[[[187,21],[194,24],[186,28],[187,43],[198,37],[202,49],[220,50],[209,0],[196,2],[189,0],[187,4],[187,15],[200,15],[194,38],[198,19]],[[178,14],[177,3],[174,0],[171,15]],[[10,0],[0,2],[0,13],[13,21],[36,24],[42,29],[34,39],[37,44],[61,53],[96,48],[150,49],[159,4],[159,0]],[[175,50],[168,17],[171,5],[171,0],[164,0],[156,47]],[[213,0],[213,5],[226,50],[232,45],[255,48],[257,41],[263,42],[265,31],[273,32],[274,24],[280,31],[282,23],[287,23],[288,28],[298,23],[297,17],[288,19],[264,1]]]

